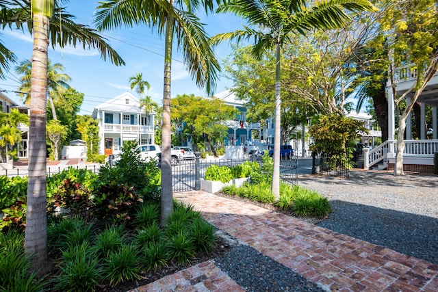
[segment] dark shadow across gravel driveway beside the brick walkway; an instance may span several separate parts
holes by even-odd
[[[438,219],[342,200],[331,206],[316,225],[438,264]]]

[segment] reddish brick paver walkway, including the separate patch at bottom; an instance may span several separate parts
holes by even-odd
[[[327,291],[438,291],[438,265],[253,204],[214,196],[204,191],[175,194],[175,197],[201,211],[203,217],[211,224],[248,243]],[[220,273],[211,262],[194,266],[194,269],[201,268],[205,275]],[[146,287],[140,287],[137,291],[242,289],[230,278],[221,279],[229,285],[234,285],[227,286],[233,289],[209,286],[214,283],[214,279],[202,287],[195,280],[196,283],[192,286],[176,289],[177,279],[181,276],[186,280],[186,284],[201,276],[196,273],[197,276],[184,273],[180,271],[170,276],[170,280],[164,280],[166,277]],[[168,286],[164,285],[165,282],[168,282]]]

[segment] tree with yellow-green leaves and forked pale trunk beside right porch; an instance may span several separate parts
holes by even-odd
[[[435,0],[381,1],[385,7],[381,26],[389,39],[389,81],[398,117],[394,175],[404,175],[403,152],[406,120],[419,96],[438,70],[438,3]],[[415,65],[416,80],[408,90],[397,94],[397,66]],[[411,101],[406,97],[411,94]],[[389,137],[392,140],[393,137]]]

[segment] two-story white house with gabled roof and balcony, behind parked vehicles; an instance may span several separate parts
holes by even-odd
[[[155,140],[154,117],[146,116],[136,96],[125,92],[110,101],[94,107],[92,118],[99,120],[101,144],[99,152],[112,155],[120,151],[125,142],[136,140],[138,144],[153,144]]]

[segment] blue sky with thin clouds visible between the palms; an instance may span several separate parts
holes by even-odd
[[[73,0],[66,5],[66,11],[73,14],[76,23],[92,26],[96,1]],[[203,14],[204,15],[204,14]],[[242,20],[232,15],[209,14],[199,16],[201,22],[205,23],[205,30],[209,36],[215,34],[242,29]],[[27,28],[25,28],[27,31]],[[164,82],[164,37],[157,35],[148,27],[135,27],[114,29],[105,31],[102,35],[107,38],[113,49],[126,62],[125,66],[115,66],[110,61],[103,61],[98,51],[94,49],[83,50],[81,44],[76,48],[66,47],[55,50],[49,47],[49,59],[52,63],[64,65],[64,73],[72,79],[69,84],[77,91],[84,94],[83,104],[79,114],[92,114],[97,105],[104,103],[123,94],[131,92],[134,96],[138,94],[129,88],[129,77],[137,73],[143,74],[143,79],[148,81],[151,88],[144,95],[152,97],[159,105],[162,105],[163,82]],[[5,47],[13,51],[18,59],[17,64],[12,64],[10,72],[5,75],[6,79],[0,79],[0,90],[3,94],[23,104],[21,98],[14,91],[17,90],[20,75],[15,72],[15,67],[32,55],[32,38],[29,34],[16,29],[5,27],[0,35]],[[228,42],[220,44],[216,49],[216,58],[222,64],[222,60],[229,55],[231,47]],[[227,90],[233,86],[233,81],[220,74],[217,82],[216,92]],[[185,65],[183,56],[177,51],[174,44],[172,53],[172,83],[171,97],[178,94],[195,94],[206,96],[205,90],[198,88],[192,81]],[[144,96],[142,95],[142,96]]]

